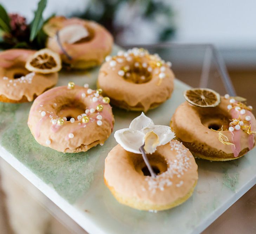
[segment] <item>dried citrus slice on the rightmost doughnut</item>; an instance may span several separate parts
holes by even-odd
[[[219,105],[221,97],[209,88],[192,88],[183,93],[186,101],[194,106],[215,107]]]

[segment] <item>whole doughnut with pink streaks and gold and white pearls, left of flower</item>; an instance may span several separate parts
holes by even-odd
[[[39,95],[28,116],[35,140],[63,153],[85,152],[103,145],[113,130],[109,98],[69,82]]]

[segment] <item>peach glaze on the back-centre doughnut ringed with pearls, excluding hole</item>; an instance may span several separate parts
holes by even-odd
[[[116,66],[111,67],[110,62],[105,62],[99,71],[98,86],[103,89],[104,94],[110,97],[111,100],[125,102],[131,109],[137,105],[141,105],[141,109],[147,112],[153,103],[158,105],[170,98],[173,91],[174,74],[172,70],[164,64],[166,68],[163,79],[159,79],[157,71],[159,68],[152,70],[152,79],[146,83],[132,83],[126,81],[123,76],[118,75],[118,71],[124,66],[133,66],[134,60],[126,61],[123,56],[123,62],[117,62]],[[140,63],[149,63],[146,57],[139,57],[136,61]]]

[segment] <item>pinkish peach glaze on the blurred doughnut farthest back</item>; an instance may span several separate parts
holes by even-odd
[[[93,30],[94,35],[90,41],[78,42],[75,44],[65,43],[62,45],[73,60],[93,60],[101,63],[105,56],[111,52],[113,44],[112,35],[103,26],[94,21],[78,18],[66,19],[63,16],[57,16],[52,18],[47,24],[52,24],[57,30],[73,24],[83,25],[85,28],[89,27]],[[63,54],[63,51],[61,51],[56,36],[48,38],[47,48],[59,53],[64,61],[68,63],[70,62]]]

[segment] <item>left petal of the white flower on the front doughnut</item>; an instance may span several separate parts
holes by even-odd
[[[129,128],[120,129],[114,133],[114,138],[120,146],[136,154],[141,154],[139,148],[144,144],[144,136],[144,133],[132,131]]]

